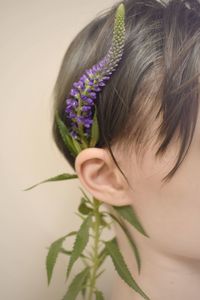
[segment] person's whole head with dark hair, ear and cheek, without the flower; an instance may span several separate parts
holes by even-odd
[[[54,89],[60,116],[73,82],[108,52],[118,5],[70,44]],[[124,5],[123,58],[96,101],[99,143],[74,161],[55,120],[54,139],[91,194],[111,205],[133,205],[159,247],[199,258],[200,4],[125,0]]]

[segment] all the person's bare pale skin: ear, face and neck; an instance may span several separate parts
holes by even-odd
[[[121,252],[133,278],[151,300],[200,299],[200,120],[189,152],[174,177],[162,185],[178,153],[171,143],[162,159],[148,147],[142,165],[133,152],[113,153],[131,187],[107,149],[88,148],[76,158],[82,185],[106,205],[132,205],[150,238],[126,222],[138,246],[140,275],[126,237],[116,224]],[[153,140],[152,140],[153,141]],[[153,144],[152,144],[153,145]],[[113,284],[111,300],[142,300],[120,277]]]

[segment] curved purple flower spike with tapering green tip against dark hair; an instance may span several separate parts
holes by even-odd
[[[125,44],[124,21],[125,8],[121,3],[116,11],[113,38],[108,53],[98,63],[86,69],[84,74],[73,83],[70,97],[66,99],[65,112],[71,125],[69,132],[80,143],[83,135],[90,138],[97,93],[101,92],[106,85],[105,81],[110,79],[122,58]],[[86,142],[85,139],[84,142]],[[87,142],[90,145],[90,141],[87,140]],[[92,143],[94,144],[94,141]]]

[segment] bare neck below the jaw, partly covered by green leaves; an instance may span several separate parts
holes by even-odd
[[[151,239],[143,237],[134,230],[134,241],[141,257],[141,271],[138,274],[135,257],[127,239],[117,224],[115,228],[125,262],[135,281],[151,300],[200,298],[200,261],[169,255],[156,248]],[[118,275],[115,276],[111,300],[143,299]]]

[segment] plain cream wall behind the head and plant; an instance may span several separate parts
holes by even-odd
[[[68,258],[47,286],[47,247],[77,230],[78,179],[23,189],[73,173],[51,136],[52,88],[76,33],[116,0],[0,0],[0,299],[61,300]],[[107,234],[112,237],[113,233]],[[106,237],[106,236],[105,236]],[[73,237],[65,243],[70,249]],[[72,279],[81,262],[76,263]],[[116,271],[107,258],[99,289],[110,299]],[[70,281],[69,281],[70,282]]]

